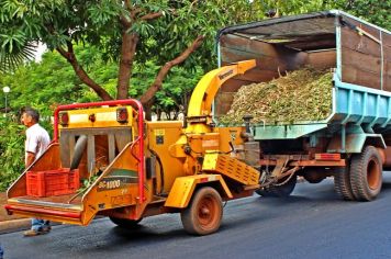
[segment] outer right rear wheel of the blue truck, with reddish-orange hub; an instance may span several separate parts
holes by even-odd
[[[381,158],[376,147],[367,146],[361,154],[351,157],[351,191],[358,201],[375,200],[380,193],[382,180]]]

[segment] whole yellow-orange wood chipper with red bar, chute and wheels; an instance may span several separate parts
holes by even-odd
[[[133,99],[57,108],[54,140],[10,187],[7,211],[82,226],[105,215],[123,227],[180,213],[190,234],[217,230],[222,202],[259,188],[259,146],[246,127],[216,127],[212,102],[224,81],[255,65],[239,61],[206,74],[185,127],[145,121]]]

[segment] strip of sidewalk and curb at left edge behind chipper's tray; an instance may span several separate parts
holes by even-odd
[[[0,192],[0,234],[27,229],[31,225],[31,219],[16,215],[8,215],[4,209],[5,202],[5,192]]]

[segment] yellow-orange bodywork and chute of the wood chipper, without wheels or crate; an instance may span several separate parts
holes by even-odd
[[[255,66],[255,60],[247,60],[208,72],[191,97],[186,128],[182,128],[181,122],[146,122],[146,128],[142,133],[136,126],[137,123],[139,125],[139,114],[137,115],[132,106],[126,106],[129,119],[125,123],[118,122],[118,105],[69,111],[69,122],[59,127],[59,134],[80,131],[86,134],[93,133],[89,139],[94,139],[99,134],[104,135],[105,130],[118,128],[116,133],[109,134],[108,137],[98,137],[97,139],[103,140],[96,139],[97,144],[89,140],[96,148],[92,148],[92,151],[101,148],[103,154],[113,154],[115,148],[110,149],[110,145],[119,145],[123,128],[131,128],[131,142],[125,146],[122,144],[121,151],[114,159],[103,162],[103,167],[99,169],[100,176],[82,195],[31,199],[25,193],[26,171],[64,167],[60,162],[59,145],[52,145],[8,190],[8,211],[25,216],[88,225],[97,214],[137,221],[146,215],[186,209],[194,191],[201,185],[213,187],[224,200],[250,195],[252,192],[248,191],[257,188],[259,172],[241,161],[239,154],[231,153],[232,146],[243,146],[241,135],[244,128],[216,128],[210,123],[212,102],[221,85]],[[145,136],[144,153],[150,164],[146,169],[146,179],[143,179],[143,199],[139,196],[139,184],[136,184],[141,179],[136,176],[139,164],[144,161],[134,159],[139,145],[135,139],[141,134]],[[75,142],[72,145],[75,146]],[[89,153],[92,153],[91,150],[89,149]],[[228,153],[230,156],[225,155]],[[88,156],[83,155],[81,164],[89,162]],[[234,168],[235,172],[228,168]],[[97,170],[89,172],[82,169],[81,174],[87,178]],[[124,177],[132,173],[133,180],[132,177]],[[233,193],[225,178],[243,187],[242,193]]]

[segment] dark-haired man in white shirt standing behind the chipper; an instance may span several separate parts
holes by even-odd
[[[43,128],[40,122],[40,113],[32,109],[25,108],[22,111],[21,122],[27,127],[25,140],[25,167],[29,168],[47,148],[51,143],[49,135]],[[33,218],[32,227],[24,233],[24,236],[37,236],[51,230],[48,221]]]

